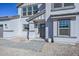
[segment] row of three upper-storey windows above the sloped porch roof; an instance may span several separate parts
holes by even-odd
[[[23,16],[33,15],[38,12],[38,5],[28,5],[22,8]]]

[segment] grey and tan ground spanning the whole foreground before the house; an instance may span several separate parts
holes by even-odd
[[[0,40],[0,56],[79,56],[79,44]]]

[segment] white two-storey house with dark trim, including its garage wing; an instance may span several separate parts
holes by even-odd
[[[21,3],[17,8],[18,18],[0,21],[3,38],[19,36],[26,40],[79,42],[78,3]]]

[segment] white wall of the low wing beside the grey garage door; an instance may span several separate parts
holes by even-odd
[[[0,24],[3,24],[3,38],[11,38],[16,35],[16,19],[8,21],[0,21]],[[5,27],[7,24],[7,28]]]

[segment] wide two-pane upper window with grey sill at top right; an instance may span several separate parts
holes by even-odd
[[[52,10],[65,10],[74,8],[74,3],[52,3],[51,9]]]

